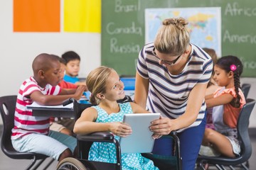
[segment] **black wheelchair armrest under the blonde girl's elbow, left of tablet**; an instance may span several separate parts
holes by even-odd
[[[77,135],[77,140],[88,142],[113,142],[114,135],[111,132],[93,132],[87,135]]]

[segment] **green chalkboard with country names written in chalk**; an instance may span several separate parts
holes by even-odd
[[[221,54],[240,57],[242,77],[256,77],[256,1],[105,0],[102,1],[102,65],[134,76],[145,43],[146,8],[221,8]],[[219,56],[220,57],[220,56]]]

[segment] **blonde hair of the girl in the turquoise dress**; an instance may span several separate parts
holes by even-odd
[[[97,94],[104,94],[106,92],[107,79],[114,69],[110,67],[100,66],[93,69],[86,78],[86,85],[91,92],[90,103],[98,105],[100,98],[97,98]]]

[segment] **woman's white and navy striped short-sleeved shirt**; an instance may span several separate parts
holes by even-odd
[[[180,74],[170,74],[168,69],[159,64],[152,50],[153,43],[145,45],[139,53],[137,72],[144,79],[149,79],[147,108],[164,117],[178,118],[186,111],[188,96],[196,84],[207,84],[213,69],[211,57],[200,47],[191,44],[192,50],[188,62]],[[190,127],[197,126],[204,118],[206,103],[203,101],[198,118]]]

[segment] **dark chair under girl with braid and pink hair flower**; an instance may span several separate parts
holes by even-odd
[[[234,169],[233,166],[240,165],[242,169],[248,169],[245,166],[245,162],[250,159],[252,154],[252,145],[250,142],[250,137],[248,133],[248,125],[250,114],[252,113],[252,109],[255,106],[255,100],[252,98],[246,99],[246,104],[243,106],[240,111],[240,115],[238,118],[238,137],[241,142],[241,152],[239,157],[230,158],[230,157],[206,157],[206,156],[198,156],[197,162],[200,164],[201,169],[204,169],[203,164],[215,165],[218,169],[225,169],[225,166],[229,166],[230,169]]]

